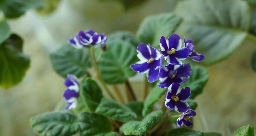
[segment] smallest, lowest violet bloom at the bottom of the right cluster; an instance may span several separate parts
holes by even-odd
[[[182,128],[182,126],[192,126],[193,123],[189,120],[190,118],[194,117],[196,115],[195,111],[192,109],[189,109],[185,113],[183,113],[178,119],[177,119],[177,125],[179,128]]]

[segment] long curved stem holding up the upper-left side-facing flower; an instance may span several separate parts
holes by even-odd
[[[92,49],[92,53],[91,53],[91,50],[90,48],[88,48],[88,55],[89,55],[89,58],[91,60],[91,63],[93,65],[93,69],[96,73],[96,78],[99,80],[100,84],[102,85],[102,87],[107,91],[108,95],[113,99],[113,100],[116,100],[115,97],[112,95],[112,93],[110,92],[109,88],[107,87],[107,85],[105,84],[105,82],[101,79],[100,77],[100,72],[99,72],[99,68],[98,68],[98,65],[95,61],[95,55],[94,55],[94,47],[92,46],[91,49]]]

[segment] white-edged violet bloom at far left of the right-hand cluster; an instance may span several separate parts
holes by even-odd
[[[148,82],[152,83],[158,79],[159,69],[162,65],[161,53],[150,45],[139,44],[137,47],[139,62],[130,65],[135,72],[146,73]]]

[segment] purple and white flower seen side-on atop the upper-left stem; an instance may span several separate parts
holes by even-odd
[[[74,37],[69,38],[69,43],[78,49],[83,47],[90,47],[91,45],[105,45],[108,36],[104,36],[104,33],[98,34],[93,30],[79,31]]]

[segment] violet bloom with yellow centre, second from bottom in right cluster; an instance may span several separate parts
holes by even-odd
[[[179,113],[186,112],[189,109],[189,104],[186,100],[190,97],[190,88],[179,88],[180,84],[173,83],[169,86],[165,98],[165,107]]]

